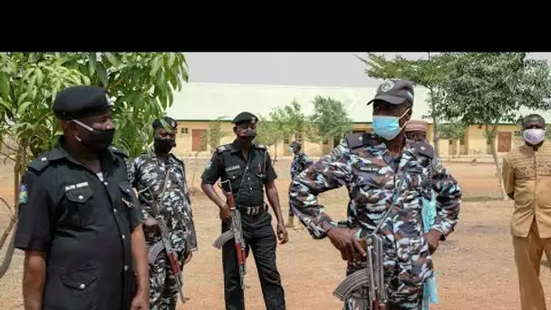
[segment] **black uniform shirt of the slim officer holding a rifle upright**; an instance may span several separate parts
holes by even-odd
[[[210,159],[201,179],[207,184],[215,184],[220,178],[230,179],[238,206],[260,206],[264,202],[264,186],[277,179],[277,175],[265,146],[253,144],[248,156],[247,166],[237,140],[222,145]]]

